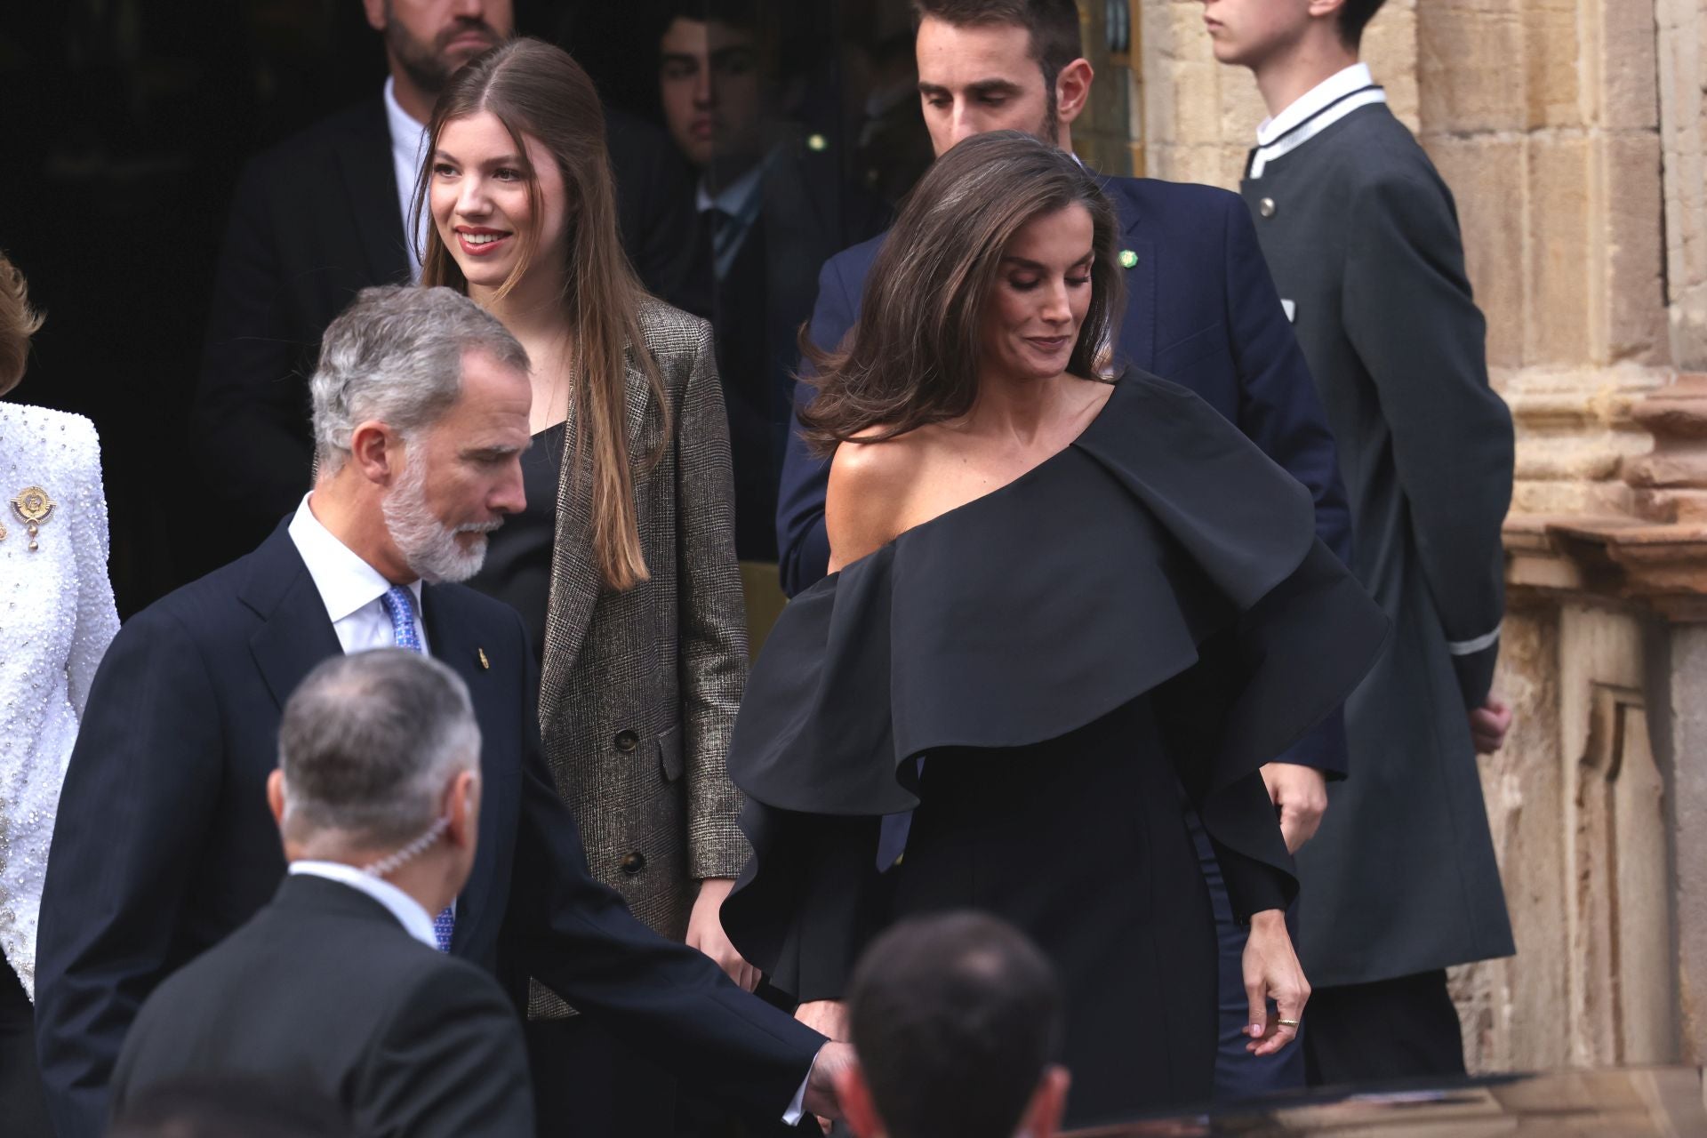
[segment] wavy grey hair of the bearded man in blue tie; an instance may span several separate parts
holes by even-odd
[[[463,394],[463,353],[485,351],[527,372],[527,350],[504,324],[451,288],[364,288],[321,338],[314,461],[331,474],[350,457],[358,423],[379,420],[415,437]]]

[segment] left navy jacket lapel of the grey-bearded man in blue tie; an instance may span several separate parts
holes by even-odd
[[[239,597],[263,621],[249,638],[249,653],[273,701],[283,708],[316,664],[343,650],[287,525],[273,531],[254,551],[253,570]]]

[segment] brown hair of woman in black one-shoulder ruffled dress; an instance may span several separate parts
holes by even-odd
[[[865,275],[859,322],[824,351],[802,329],[818,396],[801,408],[818,454],[860,435],[883,442],[966,415],[978,394],[980,322],[1002,253],[1026,222],[1082,205],[1094,230],[1091,307],[1067,370],[1086,379],[1118,333],[1125,280],[1115,208],[1057,147],[1012,130],[968,138],[925,174]],[[872,427],[881,430],[872,433]]]

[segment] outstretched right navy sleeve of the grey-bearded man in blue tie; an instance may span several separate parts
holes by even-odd
[[[529,662],[527,746],[504,935],[509,952],[683,1083],[754,1123],[777,1123],[823,1036],[736,988],[705,954],[654,933],[621,896],[592,879],[575,819],[539,752],[539,682],[533,653],[522,657]]]

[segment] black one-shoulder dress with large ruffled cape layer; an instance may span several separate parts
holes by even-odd
[[[724,926],[819,1000],[898,918],[997,913],[1060,973],[1074,1124],[1207,1102],[1215,937],[1181,795],[1236,913],[1285,906],[1258,768],[1384,633],[1309,493],[1127,372],[1065,450],[787,607],[729,756],[753,860]],[[883,817],[910,810],[893,863]]]

